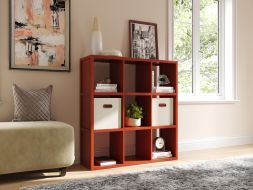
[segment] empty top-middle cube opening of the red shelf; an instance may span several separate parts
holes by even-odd
[[[125,92],[151,92],[151,63],[131,62],[125,64]]]

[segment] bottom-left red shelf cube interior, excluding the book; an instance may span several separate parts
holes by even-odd
[[[94,134],[94,165],[96,158],[108,157],[123,163],[123,132],[108,132]]]

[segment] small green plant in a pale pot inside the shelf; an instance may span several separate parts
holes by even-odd
[[[130,104],[126,110],[126,126],[141,126],[143,108],[136,103]]]

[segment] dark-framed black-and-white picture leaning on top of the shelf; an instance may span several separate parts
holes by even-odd
[[[158,59],[157,24],[129,20],[130,52],[133,58]]]

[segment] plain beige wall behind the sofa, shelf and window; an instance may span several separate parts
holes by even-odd
[[[251,73],[253,66],[252,0],[238,1],[238,97],[228,105],[180,105],[179,140],[253,134]],[[72,0],[71,73],[18,71],[8,69],[8,0],[0,1],[0,121],[13,117],[11,85],[41,88],[53,84],[55,119],[72,124],[79,157],[79,58],[90,53],[93,16],[100,18],[104,49],[121,49],[128,55],[128,20],[158,23],[160,58],[167,57],[167,0]]]

